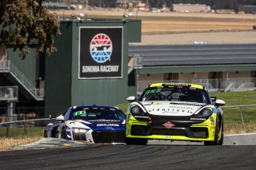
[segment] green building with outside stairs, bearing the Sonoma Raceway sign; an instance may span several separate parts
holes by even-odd
[[[40,116],[48,117],[71,105],[117,105],[136,93],[134,77],[128,77],[128,43],[141,42],[140,20],[70,20],[60,29],[58,51],[50,57],[35,57],[32,49],[22,60],[11,47],[1,50],[0,86],[18,86],[16,107],[40,106]]]

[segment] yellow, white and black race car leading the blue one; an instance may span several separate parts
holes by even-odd
[[[126,144],[147,144],[148,140],[204,141],[223,144],[225,101],[210,98],[202,85],[155,83],[135,101],[126,117]]]

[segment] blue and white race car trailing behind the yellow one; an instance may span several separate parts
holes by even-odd
[[[117,107],[73,106],[46,126],[44,136],[92,143],[123,143],[125,125],[126,114]]]

